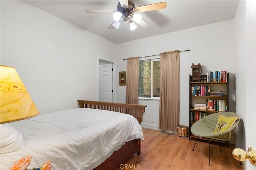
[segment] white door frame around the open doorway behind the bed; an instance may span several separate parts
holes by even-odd
[[[112,61],[110,59],[105,59],[102,57],[97,57],[97,75],[96,75],[96,84],[97,84],[97,101],[99,101],[99,65],[100,65],[100,60],[106,61],[108,63],[112,63],[112,88],[113,88],[113,93],[112,93],[112,102],[116,102],[116,61]]]

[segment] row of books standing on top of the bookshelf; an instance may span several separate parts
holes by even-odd
[[[228,82],[228,70],[209,71],[206,73],[207,82]]]

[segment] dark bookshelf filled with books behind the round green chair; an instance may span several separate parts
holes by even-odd
[[[189,140],[197,138],[190,132],[196,121],[212,113],[228,111],[229,74],[226,74],[226,82],[207,82],[210,78],[205,81],[206,76],[202,77],[202,80],[193,80],[189,75]]]

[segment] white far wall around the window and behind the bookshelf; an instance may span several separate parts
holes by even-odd
[[[117,49],[119,53],[125,51],[122,57],[116,59],[118,72],[126,70],[126,61],[122,59],[128,57],[143,57],[174,50],[191,50],[180,53],[180,124],[189,124],[188,94],[192,63],[202,64],[202,75],[206,75],[207,71],[227,69],[230,72],[230,97],[234,96],[233,20],[121,43],[118,44]],[[118,86],[117,101],[125,102],[125,87]],[[148,105],[143,115],[142,126],[158,129],[159,101],[140,100],[139,104]],[[234,99],[230,98],[230,104],[230,111],[234,111]],[[151,123],[151,118],[154,118],[154,123]]]

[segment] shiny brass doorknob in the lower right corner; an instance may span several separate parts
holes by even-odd
[[[245,161],[246,159],[249,159],[252,165],[256,165],[256,150],[252,147],[249,147],[247,152],[245,152],[243,149],[236,148],[232,151],[232,155],[236,160],[239,161]]]

